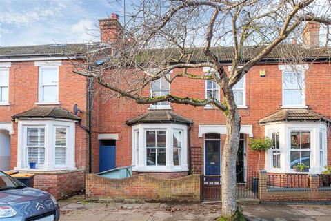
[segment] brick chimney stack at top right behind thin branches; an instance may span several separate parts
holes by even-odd
[[[319,47],[319,29],[321,23],[316,21],[309,21],[305,28],[303,28],[303,44],[308,48]]]

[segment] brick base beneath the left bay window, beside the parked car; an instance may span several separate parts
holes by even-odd
[[[28,171],[27,173],[29,173]],[[57,199],[68,198],[85,189],[85,172],[34,171],[34,188],[41,189]]]

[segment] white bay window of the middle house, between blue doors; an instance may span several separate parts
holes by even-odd
[[[132,126],[134,171],[188,171],[187,130],[172,123]]]

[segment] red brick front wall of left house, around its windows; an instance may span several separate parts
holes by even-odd
[[[37,106],[38,102],[38,66],[34,61],[12,62],[9,68],[9,103],[10,106],[0,106],[0,122],[10,122],[11,116],[28,111]],[[79,114],[86,123],[86,78],[72,73],[70,61],[62,61],[59,66],[59,102],[62,108],[72,111],[74,103],[84,112]],[[87,163],[87,133],[76,127],[76,165],[86,168]],[[14,135],[11,135],[10,168],[17,164],[17,124],[14,123]]]

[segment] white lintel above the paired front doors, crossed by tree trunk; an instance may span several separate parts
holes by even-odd
[[[205,133],[219,133],[226,134],[226,125],[199,125],[198,137],[202,137]],[[248,134],[253,137],[253,126],[252,124],[241,125],[240,133]]]

